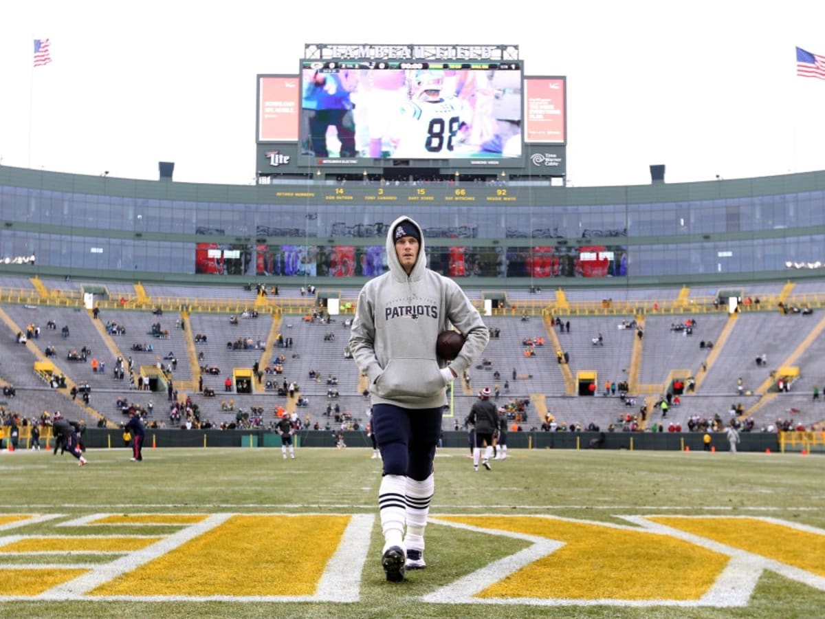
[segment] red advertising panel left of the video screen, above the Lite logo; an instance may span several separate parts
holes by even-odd
[[[259,75],[257,83],[257,141],[298,140],[299,79],[295,75]]]

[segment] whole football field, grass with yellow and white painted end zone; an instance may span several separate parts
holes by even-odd
[[[427,569],[388,583],[363,448],[0,453],[3,617],[815,617],[822,456],[436,456]]]

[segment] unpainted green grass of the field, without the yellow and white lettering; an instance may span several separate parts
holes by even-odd
[[[78,467],[50,451],[2,453],[2,504],[7,513],[59,513],[52,522],[0,536],[65,535],[56,522],[93,513],[345,513],[375,514],[365,550],[359,602],[0,602],[6,617],[803,617],[825,607],[825,591],[765,571],[741,608],[537,607],[442,604],[420,598],[455,579],[530,546],[530,542],[427,529],[428,568],[403,584],[384,581],[376,496],[380,461],[365,449],[300,449],[283,461],[279,449],[146,449],[129,461],[123,449],[87,453]],[[492,471],[472,470],[468,450],[436,457],[431,517],[449,514],[551,515],[627,525],[620,515],[771,517],[825,531],[821,456],[662,451],[511,450]],[[116,529],[116,527],[115,527]],[[175,527],[144,527],[143,535]],[[106,532],[110,532],[107,529]],[[825,533],[823,533],[825,535]],[[109,555],[2,557],[20,563],[98,563]],[[263,577],[266,575],[264,574]],[[656,579],[655,566],[633,578]],[[288,584],[286,585],[288,587]],[[135,592],[139,594],[139,592]],[[185,594],[186,592],[180,592]],[[0,596],[3,595],[0,581]],[[662,583],[667,598],[667,583]]]

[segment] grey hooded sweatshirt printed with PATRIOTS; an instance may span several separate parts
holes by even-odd
[[[421,248],[409,275],[395,254],[393,230],[408,220],[418,229]],[[368,281],[358,296],[350,350],[370,378],[372,404],[405,409],[434,409],[446,404],[446,381],[436,358],[438,333],[455,327],[466,338],[450,366],[461,374],[480,357],[489,333],[479,310],[455,281],[427,268],[424,234],[409,217],[399,217],[387,231],[389,271]]]

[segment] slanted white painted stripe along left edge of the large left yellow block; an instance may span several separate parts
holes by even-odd
[[[177,533],[172,533],[172,535],[164,537],[164,539],[142,550],[135,550],[129,555],[114,560],[111,563],[97,565],[87,574],[82,574],[76,579],[69,580],[67,583],[50,588],[48,591],[40,593],[40,595],[31,599],[59,600],[81,597],[99,587],[101,584],[107,583],[121,574],[130,572],[140,565],[147,564],[149,561],[167,554],[187,541],[203,535],[205,532],[210,531],[210,529],[218,527],[232,516],[233,514],[231,513],[216,513],[206,518],[205,521],[193,524],[191,527],[186,527]]]

